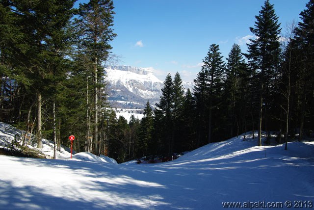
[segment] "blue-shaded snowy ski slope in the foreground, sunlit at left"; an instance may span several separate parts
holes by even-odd
[[[9,135],[3,133],[1,141]],[[294,201],[313,207],[314,142],[289,142],[288,151],[256,145],[239,136],[159,164],[115,164],[88,153],[0,156],[0,209],[219,210],[223,202],[281,202],[287,209],[286,201],[292,209]]]

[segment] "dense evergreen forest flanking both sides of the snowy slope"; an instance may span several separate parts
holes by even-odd
[[[300,22],[283,31],[274,5],[265,0],[254,38],[241,52],[234,44],[226,59],[211,44],[193,90],[180,74],[168,74],[159,103],[149,101],[144,117],[128,121],[106,102],[103,68],[115,57],[110,42],[112,0],[1,0],[0,121],[77,152],[104,154],[118,162],[171,155],[256,131],[257,145],[313,135],[314,0]],[[262,138],[263,132],[266,138]],[[262,139],[266,139],[262,142]],[[245,140],[245,139],[244,139]],[[287,149],[287,144],[286,144]]]

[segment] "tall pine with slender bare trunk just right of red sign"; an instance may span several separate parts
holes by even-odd
[[[111,46],[109,44],[116,34],[113,33],[113,2],[112,0],[89,0],[79,5],[79,18],[76,21],[79,27],[80,43],[78,49],[85,56],[88,71],[94,78],[94,153],[99,154],[98,126],[99,110],[102,103],[99,93],[102,87],[102,64],[108,61]]]

